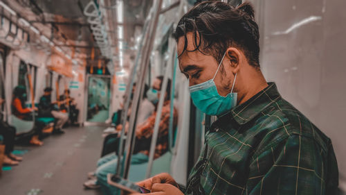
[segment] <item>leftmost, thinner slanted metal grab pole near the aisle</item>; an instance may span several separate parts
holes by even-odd
[[[144,48],[143,48],[143,42],[145,42],[145,35],[149,34],[147,33],[147,26],[149,24],[149,21],[145,22],[144,28],[143,28],[143,34],[142,34],[142,40],[140,42],[140,46],[139,46],[139,50],[138,53],[136,55],[136,60],[134,63],[134,67],[131,71],[131,81],[129,83],[129,85],[127,86],[127,92],[126,92],[126,98],[125,98],[125,112],[122,112],[122,116],[121,116],[121,124],[122,124],[122,130],[120,133],[120,142],[119,142],[119,147],[118,147],[118,163],[116,164],[116,174],[119,176],[120,175],[120,159],[122,158],[122,153],[123,153],[123,143],[124,143],[124,135],[125,135],[125,125],[126,125],[126,121],[127,121],[127,112],[129,111],[129,103],[130,103],[130,96],[131,96],[131,92],[132,92],[132,87],[134,87],[134,79],[136,76],[136,71],[138,68],[138,61],[140,59],[141,53],[143,53]]]

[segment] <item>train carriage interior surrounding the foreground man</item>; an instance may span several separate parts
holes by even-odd
[[[12,153],[23,160],[2,165],[0,194],[107,194],[83,185],[104,154],[105,137],[118,125],[120,144],[112,149],[122,151],[124,160],[114,171],[121,169],[131,182],[167,172],[185,185],[206,129],[215,121],[192,103],[172,36],[196,2],[1,0],[0,112],[16,129]],[[242,0],[226,2],[237,6]],[[346,1],[250,2],[260,26],[266,80],[331,138],[340,194],[346,194],[346,67],[341,60]],[[154,109],[143,105],[156,80],[161,93],[169,94],[156,99],[155,108],[167,112],[167,149],[154,158],[155,142],[149,140],[149,160],[134,164],[134,130],[142,122],[140,113]],[[61,128],[59,117],[42,114],[46,94],[61,120],[67,116]],[[25,117],[16,114],[16,98],[31,110]],[[160,116],[150,116],[153,136],[161,128]]]

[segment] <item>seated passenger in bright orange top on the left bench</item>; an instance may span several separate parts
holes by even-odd
[[[12,114],[15,115],[15,117],[22,119],[22,120],[33,120],[33,114],[37,108],[26,108],[25,101],[26,101],[26,89],[24,86],[19,85],[15,87],[15,90],[13,92],[13,98],[12,98]],[[39,128],[34,128],[35,133],[33,137],[30,139],[30,144],[42,146],[43,142],[39,140],[39,136],[42,133],[42,130]]]

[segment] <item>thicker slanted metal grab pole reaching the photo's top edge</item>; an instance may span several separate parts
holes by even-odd
[[[161,6],[162,6],[162,2],[163,0],[156,0],[154,1],[153,5],[156,6],[154,11],[153,11],[153,16],[154,18],[152,18],[152,22],[150,25],[150,29],[149,29],[149,40],[147,42],[147,48],[145,50],[145,55],[144,60],[143,60],[143,72],[142,75],[140,76],[140,80],[139,80],[139,84],[140,84],[140,89],[137,90],[134,93],[134,103],[132,105],[132,111],[134,113],[131,113],[131,117],[130,117],[130,121],[129,121],[129,133],[127,135],[129,144],[127,144],[127,153],[126,153],[126,158],[125,158],[125,169],[124,169],[124,174],[123,174],[123,178],[127,178],[127,176],[129,175],[129,164],[131,162],[131,155],[133,153],[134,150],[134,141],[135,141],[135,130],[136,130],[136,113],[138,112],[138,103],[139,103],[139,98],[140,98],[140,94],[143,94],[144,91],[144,85],[145,85],[145,74],[147,72],[148,66],[149,66],[149,56],[150,53],[153,49],[154,46],[154,39],[155,39],[155,34],[156,34],[156,28],[157,28],[157,24],[158,24],[158,15],[160,15],[160,10],[161,10]]]

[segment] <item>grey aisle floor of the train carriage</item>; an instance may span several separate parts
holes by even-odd
[[[63,135],[44,139],[43,146],[16,146],[15,153],[23,153],[24,160],[16,167],[3,168],[0,194],[101,194],[100,190],[84,189],[82,184],[100,158],[103,129],[65,128]]]

